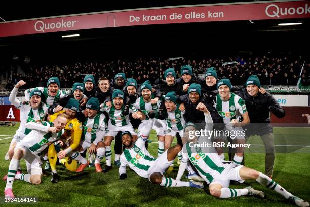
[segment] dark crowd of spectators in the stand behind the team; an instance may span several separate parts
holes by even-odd
[[[224,62],[237,64],[222,65]],[[70,88],[74,82],[83,82],[85,74],[93,74],[96,80],[100,77],[113,79],[113,74],[125,73],[126,77],[134,78],[140,85],[145,80],[154,84],[155,80],[164,79],[164,71],[167,68],[174,68],[176,77],[180,78],[182,65],[190,65],[194,74],[203,74],[206,68],[214,67],[219,79],[228,78],[233,85],[242,85],[249,76],[257,75],[261,85],[297,85],[300,69],[303,64],[302,58],[284,55],[263,55],[260,57],[228,57],[210,58],[197,60],[181,58],[177,60],[149,58],[135,60],[114,60],[114,61],[85,61],[65,65],[30,66],[25,75],[12,75],[12,82],[16,84],[20,80],[26,81],[27,87],[45,87],[50,77],[59,77],[63,88]],[[310,85],[310,63],[306,62],[301,74],[301,84]],[[12,89],[13,84],[8,82],[6,89]]]

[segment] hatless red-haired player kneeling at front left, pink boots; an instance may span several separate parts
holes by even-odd
[[[9,165],[7,185],[4,192],[6,197],[14,197],[12,191],[14,178],[32,184],[41,183],[42,168],[38,154],[64,133],[63,129],[66,122],[66,115],[59,114],[53,123],[28,122],[25,124],[25,127],[32,131],[23,140],[18,142],[15,147],[14,155]],[[16,173],[21,158],[24,158],[26,161],[28,174]]]

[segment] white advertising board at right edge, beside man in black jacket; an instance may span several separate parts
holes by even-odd
[[[307,107],[308,95],[273,95],[280,106]]]

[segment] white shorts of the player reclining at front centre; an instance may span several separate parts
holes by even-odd
[[[160,174],[164,175],[164,172],[167,170],[167,168],[174,162],[174,160],[168,161],[167,152],[168,152],[168,150],[166,150],[163,154],[161,154],[157,158],[157,160],[154,161],[154,164],[148,169],[148,171],[147,171],[148,180],[149,180],[149,177],[154,172],[159,172]]]

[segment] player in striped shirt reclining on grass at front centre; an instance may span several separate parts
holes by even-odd
[[[150,119],[141,130],[141,135],[136,142],[134,142],[134,139],[129,131],[122,133],[122,142],[126,148],[121,155],[121,166],[119,169],[120,179],[127,178],[126,166],[128,165],[139,176],[148,178],[148,180],[153,184],[158,184],[165,187],[185,186],[203,188],[203,184],[200,182],[184,182],[164,177],[164,172],[170,164],[174,162],[174,159],[176,158],[178,152],[182,149],[182,146],[177,144],[166,150],[158,158],[154,158],[144,146],[144,142],[147,140],[152,126],[153,120]]]

